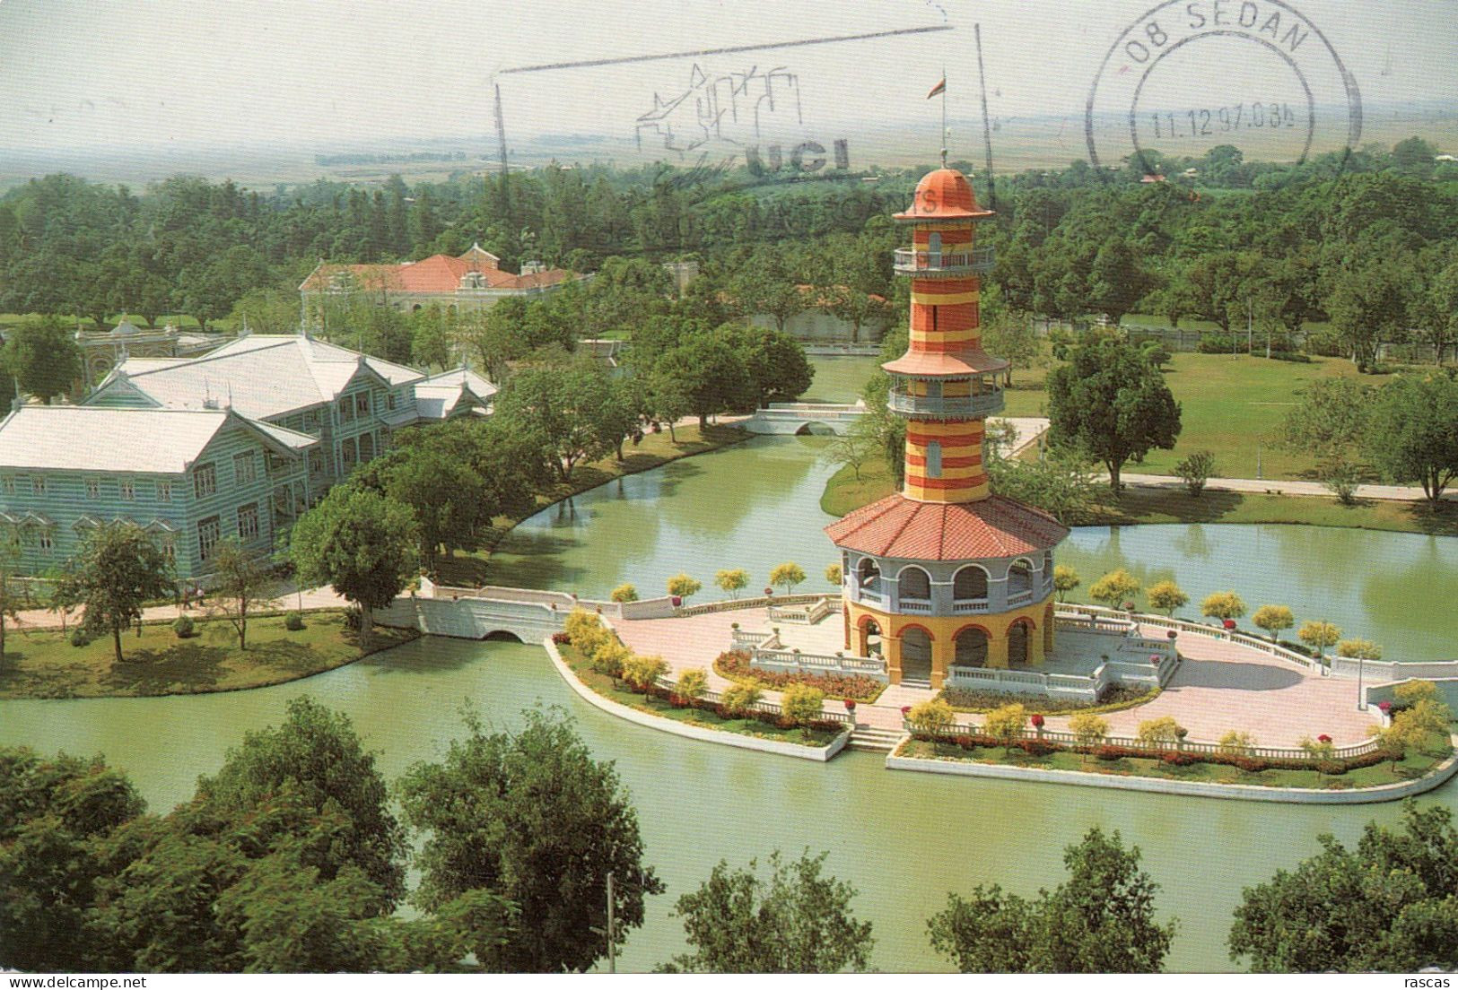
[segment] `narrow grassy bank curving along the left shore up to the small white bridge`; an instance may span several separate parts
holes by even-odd
[[[677,442],[669,437],[668,430],[663,430],[662,433],[649,433],[637,446],[625,445],[621,462],[609,453],[599,461],[579,464],[572,472],[570,484],[557,484],[551,491],[537,496],[537,507],[532,512],[541,512],[550,504],[570,499],[588,488],[596,488],[599,484],[607,484],[614,478],[649,471],[669,461],[688,458],[695,453],[717,451],[719,448],[748,440],[751,436],[738,426],[714,424],[703,430],[697,424],[679,426],[675,427],[675,433],[678,434]],[[525,518],[522,516],[522,519]],[[502,516],[496,521],[496,526],[493,526],[481,547],[469,553],[442,557],[436,564],[437,580],[442,585],[455,588],[477,588],[488,583],[491,550],[522,519]]]

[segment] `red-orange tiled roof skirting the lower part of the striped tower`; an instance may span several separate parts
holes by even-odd
[[[894,494],[825,526],[831,542],[875,557],[984,560],[1051,550],[1069,535],[1057,519],[1005,496],[917,502]]]

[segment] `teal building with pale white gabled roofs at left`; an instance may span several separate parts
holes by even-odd
[[[464,367],[432,376],[308,335],[128,359],[80,405],[22,405],[0,421],[0,534],[15,573],[47,577],[89,531],[131,522],[179,583],[206,585],[219,541],[273,553],[397,430],[483,416],[494,392]]]

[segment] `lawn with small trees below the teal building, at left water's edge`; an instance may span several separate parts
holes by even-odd
[[[206,694],[293,681],[332,671],[364,652],[359,634],[344,628],[344,612],[308,612],[302,630],[284,628],[283,615],[252,618],[248,649],[226,620],[197,624],[197,633],[178,639],[171,623],[149,623],[141,636],[121,639],[117,663],[109,636],[86,646],[71,646],[60,630],[6,637],[0,663],[0,698],[134,697]],[[414,630],[375,628],[367,653],[416,639]]]

